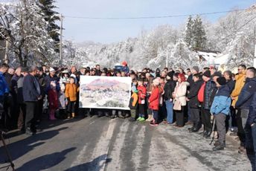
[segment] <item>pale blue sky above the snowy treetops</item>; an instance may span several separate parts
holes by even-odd
[[[7,0],[0,0],[7,1]],[[255,0],[56,0],[58,12],[64,16],[85,17],[138,17],[170,16],[191,13],[211,13],[249,7]],[[204,16],[215,22],[217,14]],[[129,36],[138,36],[141,30],[152,30],[158,25],[179,26],[187,17],[138,20],[73,19],[65,17],[64,39],[76,42],[118,42]]]

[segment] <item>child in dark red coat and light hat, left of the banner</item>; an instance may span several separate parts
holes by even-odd
[[[59,99],[58,99],[58,93],[56,90],[56,83],[54,81],[50,84],[51,88],[48,91],[48,100],[49,100],[49,109],[50,109],[50,120],[56,120],[54,114],[56,110],[59,108]]]

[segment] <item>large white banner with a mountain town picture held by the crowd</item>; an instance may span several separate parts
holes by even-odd
[[[80,77],[80,108],[129,110],[130,77]]]

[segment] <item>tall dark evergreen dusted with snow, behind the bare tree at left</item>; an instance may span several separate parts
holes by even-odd
[[[45,21],[48,22],[48,34],[54,40],[55,43],[55,51],[59,51],[59,44],[60,44],[60,27],[56,25],[56,21],[60,20],[59,13],[54,11],[56,6],[54,5],[54,0],[39,0],[39,7],[42,9],[42,13],[44,13]]]

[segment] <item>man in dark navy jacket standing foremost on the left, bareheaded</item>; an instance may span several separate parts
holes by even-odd
[[[23,98],[26,104],[25,130],[28,135],[36,133],[36,103],[42,99],[40,85],[35,77],[36,74],[37,68],[32,66],[23,82]]]

